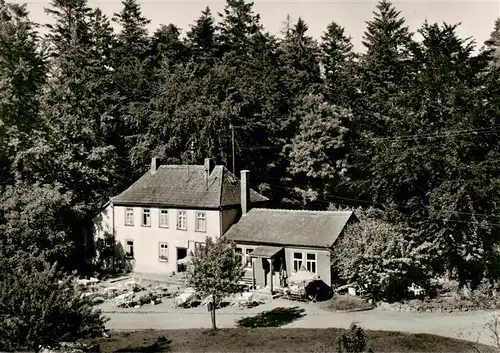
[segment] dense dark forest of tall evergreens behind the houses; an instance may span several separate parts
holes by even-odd
[[[117,31],[84,0],[48,13],[39,38],[24,7],[0,0],[1,256],[27,242],[49,261],[83,258],[92,218],[152,156],[212,157],[250,169],[274,206],[383,210],[433,275],[498,275],[498,21],[476,53],[455,25],[424,23],[413,40],[382,0],[354,53],[336,22],[320,40],[301,18],[276,37],[244,0],[217,24],[206,8],[186,36],[150,34],[135,0]]]

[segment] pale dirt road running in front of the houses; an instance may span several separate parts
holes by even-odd
[[[284,328],[348,328],[356,321],[362,327],[371,330],[404,331],[412,333],[431,333],[441,336],[466,339],[483,344],[493,344],[485,325],[491,321],[493,312],[462,313],[406,313],[371,310],[357,313],[326,312],[313,304],[297,304],[286,300],[249,310],[224,308],[217,312],[217,324],[220,328],[235,327],[236,321],[243,317],[254,316],[262,311],[276,307],[300,306],[305,316],[283,326]],[[106,311],[106,309],[104,309]],[[143,307],[134,311],[105,312],[110,318],[108,327],[113,330],[138,329],[188,329],[210,328],[210,315],[206,308],[184,309],[182,311],[164,307]],[[497,314],[500,314],[497,312]]]

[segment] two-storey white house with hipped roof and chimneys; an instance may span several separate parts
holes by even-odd
[[[268,199],[249,188],[224,166],[159,165],[113,197],[95,223],[96,237],[121,242],[134,271],[170,274],[182,271],[177,261],[205,242],[222,236],[243,209]]]

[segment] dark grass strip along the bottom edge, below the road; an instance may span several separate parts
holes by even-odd
[[[231,328],[111,332],[101,352],[334,352],[342,329]],[[428,334],[366,331],[375,353],[493,353],[494,348]]]

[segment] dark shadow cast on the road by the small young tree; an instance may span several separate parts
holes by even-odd
[[[305,316],[304,309],[298,306],[293,308],[276,308],[263,311],[256,316],[245,317],[236,322],[238,327],[280,327]]]

